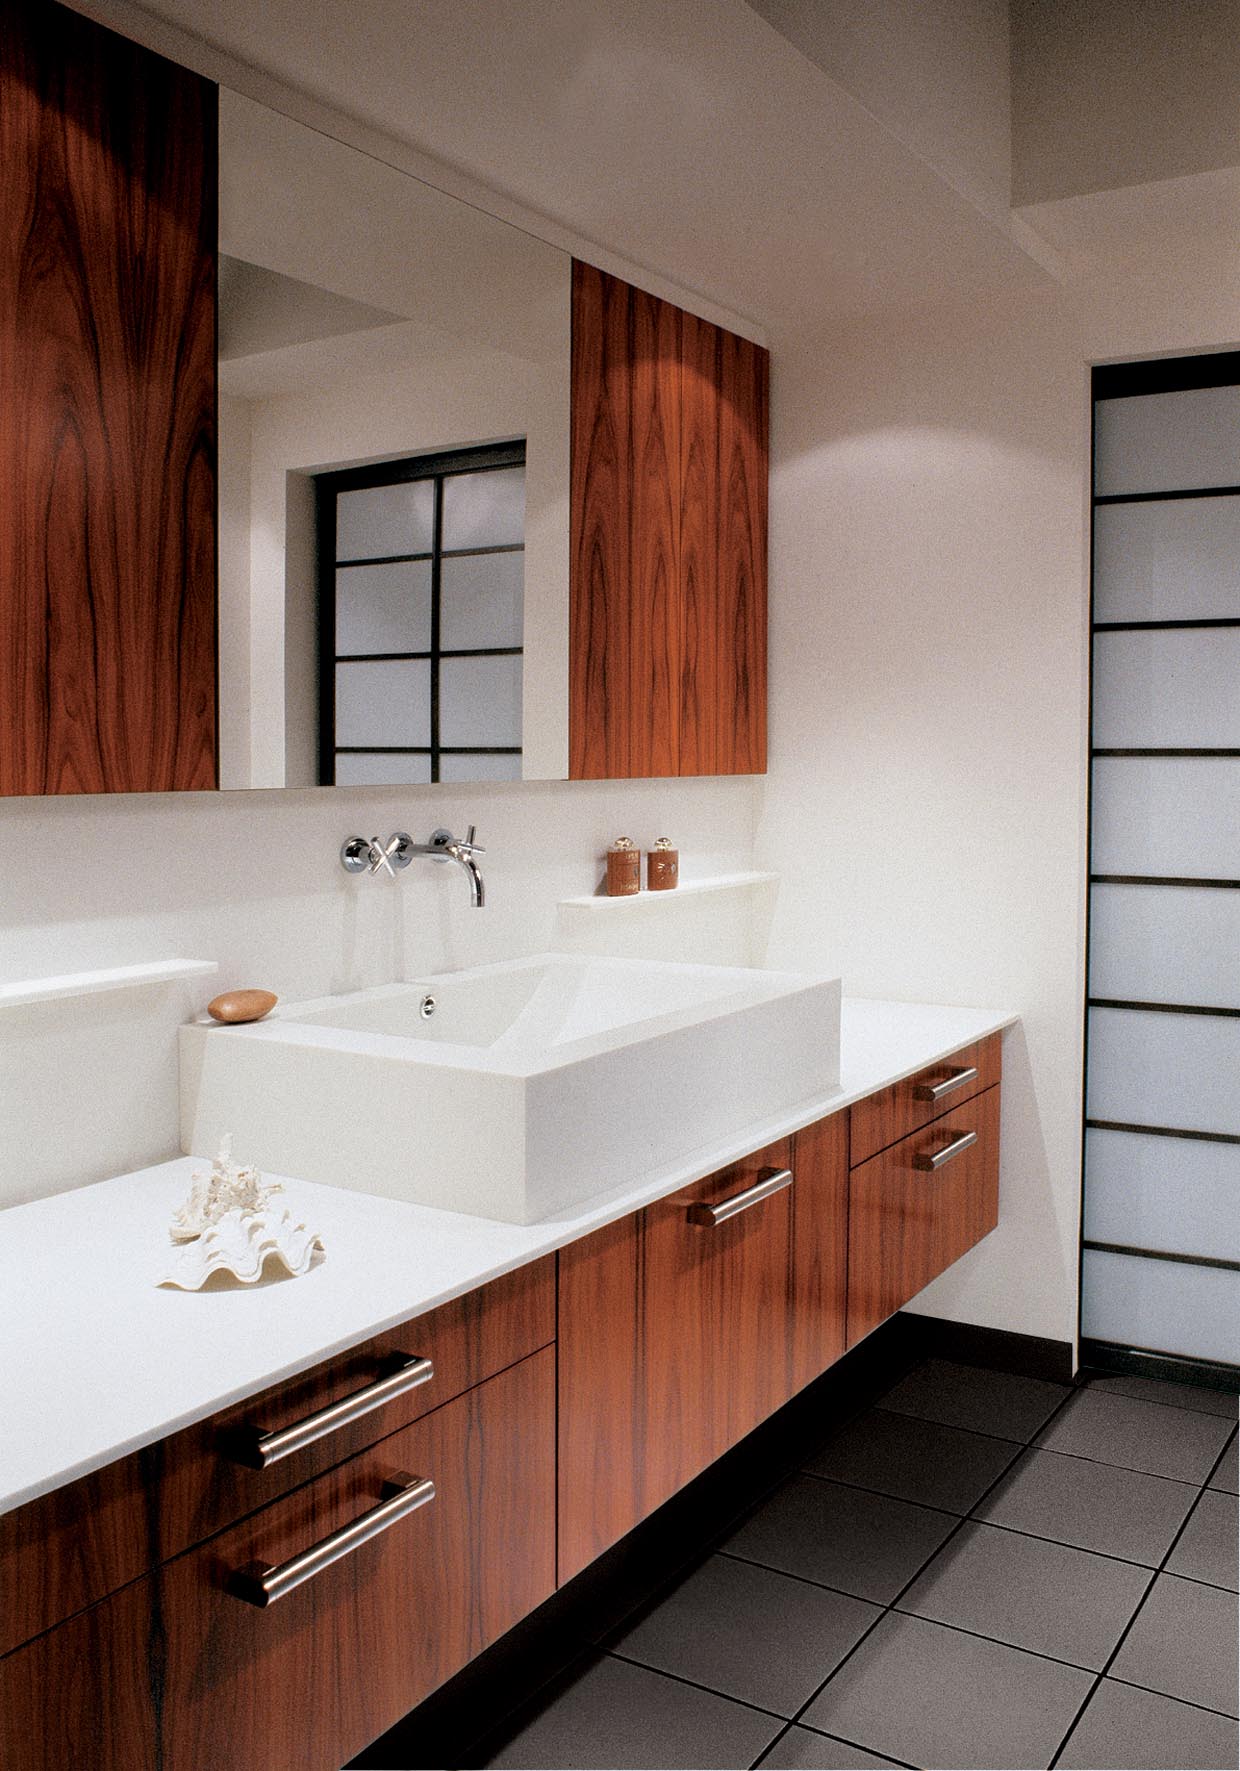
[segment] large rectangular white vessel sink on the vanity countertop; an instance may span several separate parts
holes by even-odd
[[[531,1224],[838,1082],[838,978],[544,955],[182,1027],[181,1148]]]

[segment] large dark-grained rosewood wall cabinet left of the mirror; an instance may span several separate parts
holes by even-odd
[[[0,793],[216,785],[216,89],[0,21]]]

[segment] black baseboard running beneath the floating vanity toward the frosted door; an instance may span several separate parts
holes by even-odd
[[[485,1762],[535,1695],[546,1700],[595,1645],[696,1562],[726,1527],[797,1470],[833,1426],[923,1358],[1072,1381],[1072,1346],[935,1316],[896,1314],[726,1456],[554,1592],[353,1760],[356,1771]]]

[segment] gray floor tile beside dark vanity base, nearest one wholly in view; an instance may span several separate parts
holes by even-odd
[[[608,1647],[795,1716],[880,1615],[864,1599],[716,1555]]]

